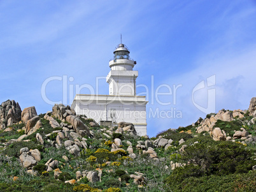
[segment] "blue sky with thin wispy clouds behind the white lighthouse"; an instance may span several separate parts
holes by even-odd
[[[192,102],[192,90],[215,76],[215,112],[248,109],[256,96],[256,1],[0,1],[0,102],[14,99],[22,109],[38,113],[52,106],[41,96],[41,86],[52,76],[68,81],[68,100],[62,81],[46,86],[46,97],[71,104],[72,85],[96,86],[96,78],[110,71],[115,46],[123,43],[137,61],[137,85],[150,88],[147,97],[148,135],[187,126],[206,114]],[[152,88],[152,79],[154,88]],[[173,95],[162,95],[163,106],[151,93],[157,86],[181,85]],[[206,85],[206,84],[205,84]],[[173,90],[172,90],[173,91]],[[145,89],[138,88],[138,93]],[[159,92],[168,92],[162,87]],[[80,93],[90,93],[84,88]],[[99,93],[108,84],[99,81]],[[194,94],[207,106],[208,88]],[[213,104],[213,100],[210,100]],[[152,118],[153,111],[173,109],[182,117]],[[151,112],[150,112],[151,110]],[[163,113],[164,113],[163,112]],[[213,112],[213,111],[211,111]],[[170,112],[169,112],[170,114]]]

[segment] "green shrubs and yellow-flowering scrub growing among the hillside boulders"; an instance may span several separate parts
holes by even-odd
[[[210,118],[211,115],[208,114],[206,118]],[[256,165],[256,128],[255,124],[248,124],[252,116],[231,122],[218,120],[215,123],[215,127],[220,127],[229,135],[234,134],[234,130],[245,128],[252,135],[246,142],[239,139],[236,142],[214,141],[208,132],[196,134],[199,124],[197,122],[194,127],[188,125],[178,130],[169,129],[160,132],[157,137],[148,139],[138,135],[115,133],[117,127],[92,128],[89,123],[94,120],[80,118],[94,133],[94,137],[83,138],[87,143],[87,149],[77,143],[80,149],[78,155],[70,154],[64,145],[55,147],[58,134],[52,132],[62,128],[52,128],[43,116],[45,114],[39,115],[43,127],[24,138],[31,141],[1,145],[3,147],[0,148],[0,191],[255,191],[256,172],[252,167]],[[24,130],[17,132],[22,127],[24,124],[17,124],[12,126],[11,132],[1,130],[0,142],[6,143],[23,135]],[[106,130],[113,132],[112,137],[103,136]],[[42,135],[44,145],[36,140],[37,133]],[[50,135],[46,137],[47,134]],[[174,142],[167,149],[154,146],[157,159],[145,154],[147,149],[136,147],[138,141],[155,141],[159,136],[172,139]],[[122,149],[111,152],[111,145],[115,143],[116,138],[122,140]],[[185,142],[179,144],[180,139],[184,139]],[[67,140],[68,138],[62,139],[62,143]],[[137,156],[135,159],[128,156],[127,147],[130,144],[127,144],[127,141],[132,143],[133,152]],[[181,152],[183,145],[187,147]],[[28,174],[22,167],[19,156],[23,147],[38,149],[41,152],[41,161],[33,167],[37,175]],[[67,156],[68,160],[63,156]],[[50,158],[58,161],[55,168],[61,171],[59,180],[55,179],[54,171],[46,172],[45,163]],[[172,170],[171,161],[181,167]],[[76,179],[77,171],[96,171],[97,174],[102,172],[101,181],[92,183],[87,177],[82,177],[79,181],[76,180],[75,184],[64,182]],[[140,174],[144,179],[143,182],[139,181],[142,188],[138,188],[134,178],[130,177]]]

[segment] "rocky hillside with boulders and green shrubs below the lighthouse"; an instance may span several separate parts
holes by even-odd
[[[0,106],[1,191],[255,191],[256,97],[156,137],[69,106]]]

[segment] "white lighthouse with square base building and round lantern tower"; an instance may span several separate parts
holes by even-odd
[[[120,121],[133,123],[139,135],[146,135],[148,101],[145,96],[136,95],[138,71],[132,71],[136,61],[129,53],[122,43],[114,51],[106,77],[110,95],[76,95],[71,108],[76,114],[85,114],[101,125],[115,126]]]

